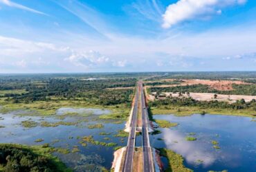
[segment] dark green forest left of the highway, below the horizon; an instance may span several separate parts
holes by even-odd
[[[1,90],[25,89],[23,94],[4,94],[13,103],[30,103],[38,100],[86,100],[99,105],[131,103],[133,89],[108,89],[135,87],[136,78],[81,80],[78,78],[50,78],[37,81],[30,79],[1,80]]]

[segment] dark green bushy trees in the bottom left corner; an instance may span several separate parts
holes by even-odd
[[[51,148],[0,144],[0,171],[71,171],[51,155]]]

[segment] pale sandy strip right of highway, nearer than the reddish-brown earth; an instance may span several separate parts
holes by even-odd
[[[173,94],[172,92],[165,92],[164,94],[166,96],[170,96],[170,94],[172,94],[173,97],[179,97],[178,93]],[[182,96],[189,97],[187,94],[182,94]],[[237,100],[241,100],[242,98],[244,98],[246,102],[250,102],[251,100],[256,99],[256,96],[226,95],[226,94],[217,94],[217,98],[214,99],[213,93],[190,93],[190,97],[195,100],[202,100],[202,101],[218,100],[218,101],[227,101],[229,103],[235,103]]]

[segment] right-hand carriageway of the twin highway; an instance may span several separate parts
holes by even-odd
[[[154,172],[154,162],[152,160],[152,149],[149,143],[149,132],[148,132],[148,113],[145,103],[145,96],[143,91],[143,83],[140,82],[140,100],[141,100],[141,113],[143,116],[143,171]]]

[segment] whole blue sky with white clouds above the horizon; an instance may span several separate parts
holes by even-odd
[[[0,73],[255,69],[253,0],[0,0]]]

